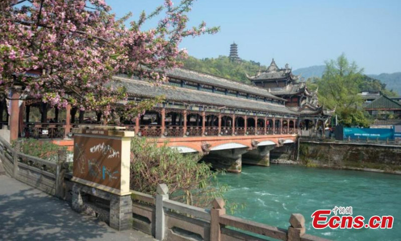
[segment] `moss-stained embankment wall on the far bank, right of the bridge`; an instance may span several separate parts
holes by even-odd
[[[301,140],[298,161],[307,166],[398,173],[401,171],[401,146]]]

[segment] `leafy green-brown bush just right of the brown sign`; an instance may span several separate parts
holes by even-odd
[[[199,160],[199,155],[180,154],[166,145],[157,147],[149,139],[133,138],[130,189],[154,195],[157,185],[165,183],[170,199],[208,207],[228,186],[220,185],[216,179],[219,172]]]

